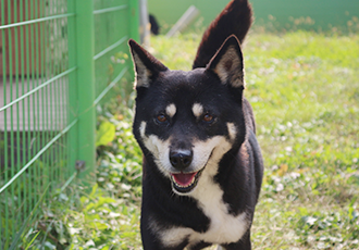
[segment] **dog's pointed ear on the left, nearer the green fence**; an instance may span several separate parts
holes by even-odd
[[[135,40],[129,39],[128,46],[136,73],[136,89],[139,87],[148,88],[161,72],[168,71],[159,60],[140,47]]]

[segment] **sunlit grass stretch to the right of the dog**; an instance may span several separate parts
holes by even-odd
[[[247,97],[267,166],[255,246],[359,248],[358,36],[247,42]]]

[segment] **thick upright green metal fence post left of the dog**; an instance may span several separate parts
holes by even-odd
[[[95,180],[95,35],[94,1],[75,0],[76,10],[76,61],[78,100],[78,161],[85,162],[79,177],[85,183]]]

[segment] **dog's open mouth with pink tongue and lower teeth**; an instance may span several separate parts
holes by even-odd
[[[198,179],[203,168],[193,173],[171,174],[172,187],[180,193],[188,193],[198,184]]]

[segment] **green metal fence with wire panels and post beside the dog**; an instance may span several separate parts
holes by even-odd
[[[0,249],[95,176],[96,107],[132,75],[135,0],[0,0]],[[79,171],[82,170],[82,172]]]

